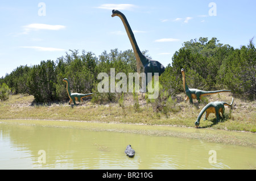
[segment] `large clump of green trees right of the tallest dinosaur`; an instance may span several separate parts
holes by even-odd
[[[183,44],[172,57],[160,83],[169,95],[184,91],[181,68],[185,69],[188,87],[202,90],[229,89],[245,99],[255,100],[256,50],[253,39],[247,47],[234,49],[218,43],[215,37],[200,37]]]

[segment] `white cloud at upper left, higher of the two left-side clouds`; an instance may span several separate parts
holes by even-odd
[[[23,26],[24,28],[24,34],[27,34],[30,31],[37,31],[37,30],[62,30],[65,28],[63,25],[51,25],[51,24],[40,24],[40,23],[34,23],[34,24],[28,24],[27,26]]]

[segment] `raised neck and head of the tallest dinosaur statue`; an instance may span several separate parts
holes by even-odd
[[[113,14],[115,14],[115,12],[117,12],[117,10],[113,10]],[[118,11],[116,15],[122,20],[123,26],[125,26],[126,33],[131,42],[131,46],[133,47],[137,64],[142,64],[142,66],[144,67],[148,63],[148,61],[147,58],[141,53],[141,50],[138,47],[137,41],[135,40],[135,36],[133,34],[133,31],[131,30],[130,24],[128,23],[125,15],[123,15],[122,12]]]

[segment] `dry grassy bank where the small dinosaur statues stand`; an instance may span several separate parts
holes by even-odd
[[[199,105],[196,100],[193,105],[184,102],[184,98],[185,94],[177,95],[171,111],[163,112],[147,103],[141,94],[138,95],[139,107],[136,109],[132,94],[124,96],[123,106],[118,103],[93,104],[90,99],[78,106],[69,106],[68,101],[43,105],[36,104],[33,96],[13,95],[9,100],[0,102],[0,119],[79,120],[194,128],[199,112],[207,103],[216,100],[227,103],[232,101],[229,93],[205,96]],[[224,117],[224,120],[216,123],[214,115],[210,114],[207,121],[201,119],[200,128],[256,132],[255,101],[246,102],[234,98],[233,108],[226,107]]]

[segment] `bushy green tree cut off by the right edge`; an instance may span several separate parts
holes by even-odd
[[[256,49],[250,44],[236,49],[222,65],[219,77],[234,94],[255,100],[256,95]]]

